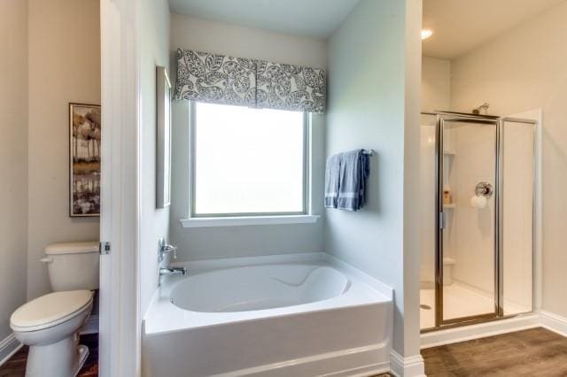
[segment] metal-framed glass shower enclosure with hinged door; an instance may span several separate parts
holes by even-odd
[[[532,312],[535,126],[422,113],[422,330]]]

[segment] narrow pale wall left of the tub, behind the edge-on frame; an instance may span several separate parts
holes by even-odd
[[[167,0],[144,0],[140,6],[140,308],[144,315],[158,288],[158,240],[169,232],[169,208],[156,209],[156,65],[169,67]]]

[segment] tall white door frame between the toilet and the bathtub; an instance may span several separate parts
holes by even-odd
[[[101,0],[102,162],[99,374],[141,370],[138,4]]]

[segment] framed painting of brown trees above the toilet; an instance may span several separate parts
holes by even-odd
[[[101,112],[98,104],[69,104],[69,216],[100,215]]]

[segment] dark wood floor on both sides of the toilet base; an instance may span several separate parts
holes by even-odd
[[[80,343],[89,347],[89,357],[82,365],[77,377],[96,377],[98,375],[98,335],[82,335]],[[0,366],[0,377],[23,377],[26,374],[26,359],[27,346],[24,346]]]

